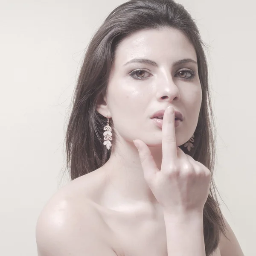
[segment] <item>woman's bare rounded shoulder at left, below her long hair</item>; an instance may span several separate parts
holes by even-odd
[[[36,224],[38,256],[116,256],[108,230],[79,182],[60,189],[46,204]]]

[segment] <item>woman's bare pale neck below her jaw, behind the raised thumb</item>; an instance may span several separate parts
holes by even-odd
[[[162,146],[149,146],[157,168],[160,170],[162,162]],[[144,178],[139,152],[133,142],[125,140],[117,142],[112,148],[111,157],[104,166],[108,176],[108,183],[113,189],[113,201],[121,204],[147,204],[158,206],[151,189]]]

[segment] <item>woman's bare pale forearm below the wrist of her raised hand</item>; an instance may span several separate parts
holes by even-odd
[[[203,213],[173,216],[164,212],[168,256],[205,256]]]

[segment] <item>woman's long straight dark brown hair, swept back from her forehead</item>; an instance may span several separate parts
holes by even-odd
[[[194,148],[180,148],[213,174],[215,166],[215,125],[208,87],[207,59],[198,27],[181,4],[173,0],[130,0],[117,6],[99,27],[88,45],[74,91],[73,108],[67,125],[67,169],[71,180],[93,172],[109,159],[111,149],[103,145],[103,127],[107,119],[96,111],[98,97],[106,92],[117,45],[140,29],[179,29],[189,39],[197,54],[198,74],[202,87],[202,104],[195,130]],[[113,128],[113,144],[115,131]],[[213,177],[213,175],[212,175]],[[206,255],[218,247],[225,223],[212,178],[204,205],[204,241]],[[225,235],[226,236],[226,235]]]

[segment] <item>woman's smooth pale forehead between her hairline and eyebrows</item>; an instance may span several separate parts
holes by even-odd
[[[124,38],[115,52],[115,64],[123,65],[133,58],[151,58],[170,63],[183,58],[195,61],[196,52],[188,38],[177,29],[143,29]]]

